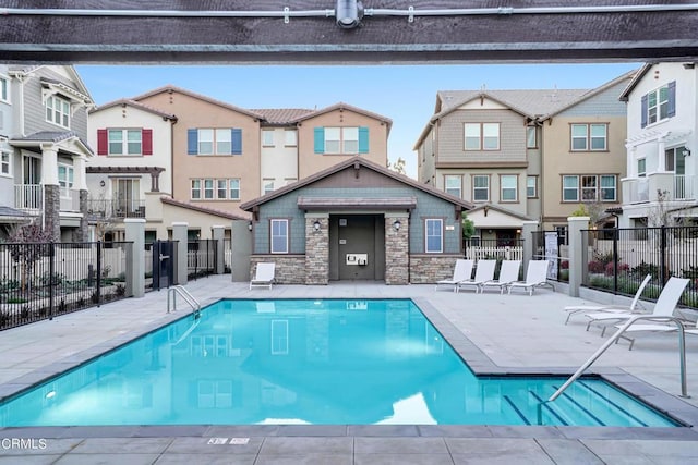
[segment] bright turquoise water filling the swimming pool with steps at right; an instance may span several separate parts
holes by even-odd
[[[675,426],[595,379],[478,378],[409,299],[221,301],[0,404],[0,426]]]

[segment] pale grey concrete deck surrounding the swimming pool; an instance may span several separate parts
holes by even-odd
[[[434,291],[433,285],[333,283],[248,290],[230,276],[192,281],[202,305],[222,297],[413,298],[478,372],[573,372],[604,341],[586,320],[565,326],[550,290],[500,295]],[[0,332],[0,397],[180,318],[167,292]],[[591,367],[698,425],[698,338],[686,338],[688,393],[681,399],[676,336],[638,335]],[[655,401],[655,402],[654,402]],[[698,462],[698,431],[683,428],[512,426],[122,426],[0,428],[0,464],[672,464]]]

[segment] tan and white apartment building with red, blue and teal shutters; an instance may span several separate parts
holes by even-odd
[[[130,204],[152,238],[171,235],[172,221],[188,221],[193,237],[210,237],[215,224],[226,225],[229,236],[228,220],[251,218],[240,209],[244,201],[356,155],[385,166],[390,124],[346,103],[250,110],[168,85],[91,113],[95,140],[133,133],[143,145],[140,154],[97,157],[89,182],[104,181],[113,198],[123,194],[110,185],[137,180],[131,185],[140,197]]]

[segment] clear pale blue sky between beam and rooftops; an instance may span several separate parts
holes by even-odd
[[[393,120],[388,161],[406,161],[438,90],[594,88],[641,66],[603,64],[77,65],[97,106],[172,84],[246,109],[349,103]]]

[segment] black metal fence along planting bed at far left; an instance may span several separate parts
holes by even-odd
[[[0,244],[0,330],[127,297],[132,245]]]

